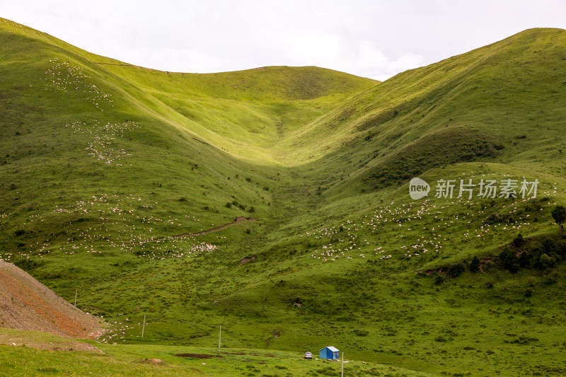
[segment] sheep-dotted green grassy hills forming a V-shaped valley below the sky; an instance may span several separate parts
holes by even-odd
[[[68,300],[78,289],[112,328],[101,342],[214,347],[222,325],[233,349],[566,373],[566,239],[550,215],[566,203],[565,30],[383,83],[155,71],[4,19],[0,42],[0,257]],[[415,176],[429,197],[410,199]],[[456,195],[435,197],[441,179]],[[456,198],[482,179],[538,180],[538,195]],[[351,375],[387,373],[412,372]]]

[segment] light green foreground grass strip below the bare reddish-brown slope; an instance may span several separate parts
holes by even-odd
[[[218,347],[93,344],[71,342],[40,332],[0,330],[1,376],[335,376],[338,361],[303,359],[300,352]],[[33,344],[28,347],[27,344]],[[62,349],[66,351],[54,351]],[[75,349],[73,348],[75,347]],[[395,366],[344,360],[345,376],[431,376]]]

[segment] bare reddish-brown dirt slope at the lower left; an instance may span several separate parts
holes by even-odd
[[[92,337],[100,328],[98,318],[57,296],[23,269],[1,260],[0,327],[75,339]]]

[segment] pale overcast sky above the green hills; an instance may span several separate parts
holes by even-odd
[[[0,0],[0,16],[163,71],[321,66],[385,80],[535,27],[562,0]]]

